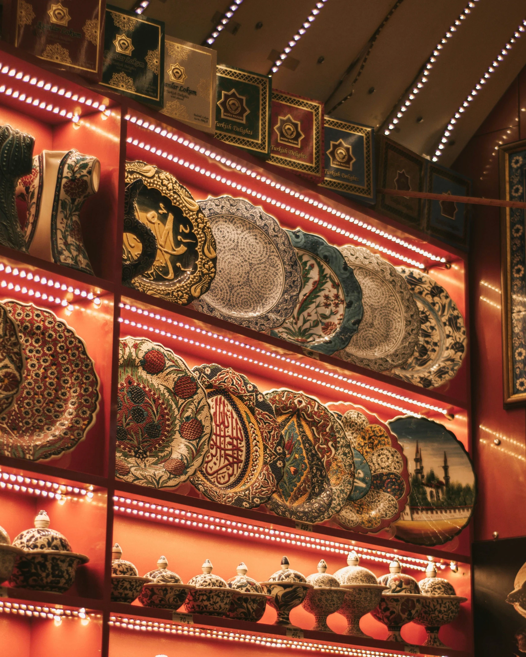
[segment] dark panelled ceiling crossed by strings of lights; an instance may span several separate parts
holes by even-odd
[[[135,5],[132,0],[112,0],[112,4],[126,9]],[[163,20],[168,35],[203,43],[216,25],[214,15],[224,14],[229,4],[151,0],[145,15]],[[434,154],[450,118],[526,18],[524,0],[471,0],[471,4],[466,19],[433,63],[427,83],[391,132],[395,141],[419,154]],[[371,36],[395,7],[373,43],[352,96],[331,112],[335,118],[385,129],[385,120],[406,89],[412,89],[421,67],[467,5],[468,0],[325,0],[292,49],[289,62],[285,60],[274,74],[272,85],[324,101],[328,112],[350,94]],[[271,51],[283,52],[315,6],[316,0],[243,0],[231,18],[231,31],[221,32],[212,46],[218,51],[218,63],[267,74]],[[355,60],[356,66],[345,76]],[[458,120],[441,164],[454,162],[525,64],[526,32]]]

